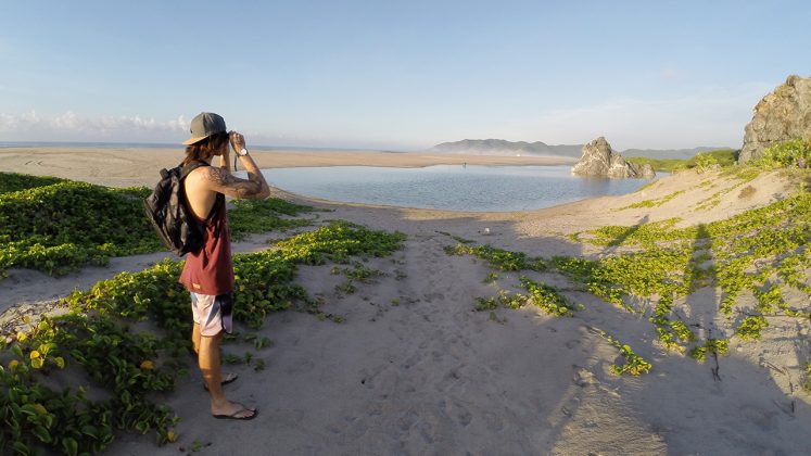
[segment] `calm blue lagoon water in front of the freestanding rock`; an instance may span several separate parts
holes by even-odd
[[[573,177],[571,166],[439,165],[424,168],[332,166],[264,169],[270,185],[352,203],[498,212],[549,207],[631,193],[650,179]]]

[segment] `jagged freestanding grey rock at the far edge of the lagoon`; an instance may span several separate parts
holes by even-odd
[[[649,164],[639,166],[626,162],[622,155],[611,150],[611,144],[604,137],[583,145],[583,156],[572,166],[572,174],[617,179],[656,177],[652,166]]]

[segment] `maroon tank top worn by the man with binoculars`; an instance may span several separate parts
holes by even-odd
[[[224,194],[217,194],[212,211],[216,213],[200,220],[205,228],[205,245],[199,252],[186,255],[178,281],[194,293],[217,295],[233,291],[231,237]]]

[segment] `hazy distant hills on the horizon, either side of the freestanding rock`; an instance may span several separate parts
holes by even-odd
[[[648,159],[689,159],[698,153],[718,149],[698,147],[693,149],[628,149],[618,151],[624,157],[644,156]],[[443,142],[431,148],[432,152],[466,153],[471,155],[553,155],[580,159],[583,144],[550,145],[545,142],[507,141],[504,139],[464,139],[461,141]]]

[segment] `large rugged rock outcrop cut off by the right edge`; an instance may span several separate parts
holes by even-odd
[[[738,163],[759,157],[774,143],[811,136],[811,77],[789,76],[763,97],[746,126]]]

